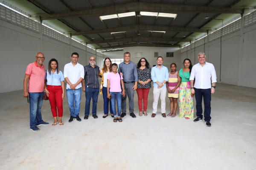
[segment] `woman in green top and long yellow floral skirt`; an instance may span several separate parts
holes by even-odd
[[[183,65],[184,68],[181,68],[179,71],[179,76],[181,78],[179,94],[180,118],[184,117],[185,119],[192,119],[194,118],[194,94],[191,94],[191,89],[189,87],[189,77],[192,70],[190,59],[184,59]]]

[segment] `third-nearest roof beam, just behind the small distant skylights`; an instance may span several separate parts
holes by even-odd
[[[183,40],[183,39],[135,36],[135,37],[126,37],[126,38],[115,38],[115,39],[110,39],[110,40],[89,41],[89,42],[87,42],[87,44],[120,42],[120,41],[175,41],[175,42],[179,41],[179,42],[190,42],[190,40]]]

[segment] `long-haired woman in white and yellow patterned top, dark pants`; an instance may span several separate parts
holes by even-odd
[[[106,118],[108,116],[108,107],[109,107],[111,117],[114,117],[114,114],[112,111],[112,106],[111,106],[111,100],[108,99],[108,97],[107,97],[107,76],[109,73],[112,72],[111,66],[112,66],[112,62],[111,62],[110,58],[107,57],[104,60],[103,68],[99,72],[99,77],[102,78],[102,82],[100,85],[100,95],[103,94],[103,101],[104,101],[104,116],[103,116],[103,118]],[[109,105],[108,105],[108,103],[109,103]]]

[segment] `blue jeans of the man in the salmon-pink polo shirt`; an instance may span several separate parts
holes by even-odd
[[[41,114],[43,94],[44,92],[29,93],[30,127],[36,127],[44,122]]]

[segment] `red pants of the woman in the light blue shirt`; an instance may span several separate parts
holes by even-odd
[[[62,107],[62,87],[61,85],[47,85],[47,90],[49,91],[49,102],[51,105],[52,116],[57,117],[57,109],[58,108],[58,116],[62,117],[63,115],[63,107]]]

